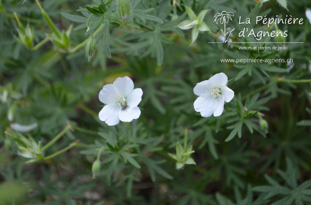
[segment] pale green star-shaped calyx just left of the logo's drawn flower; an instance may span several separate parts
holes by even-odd
[[[195,15],[194,12],[189,8],[186,7],[186,11],[190,20],[184,20],[178,24],[178,28],[181,29],[190,29],[192,28],[192,42],[196,41],[197,36],[199,35],[199,31],[209,31],[210,29],[207,25],[203,22],[204,16],[207,13],[207,10],[202,10],[199,15]]]

